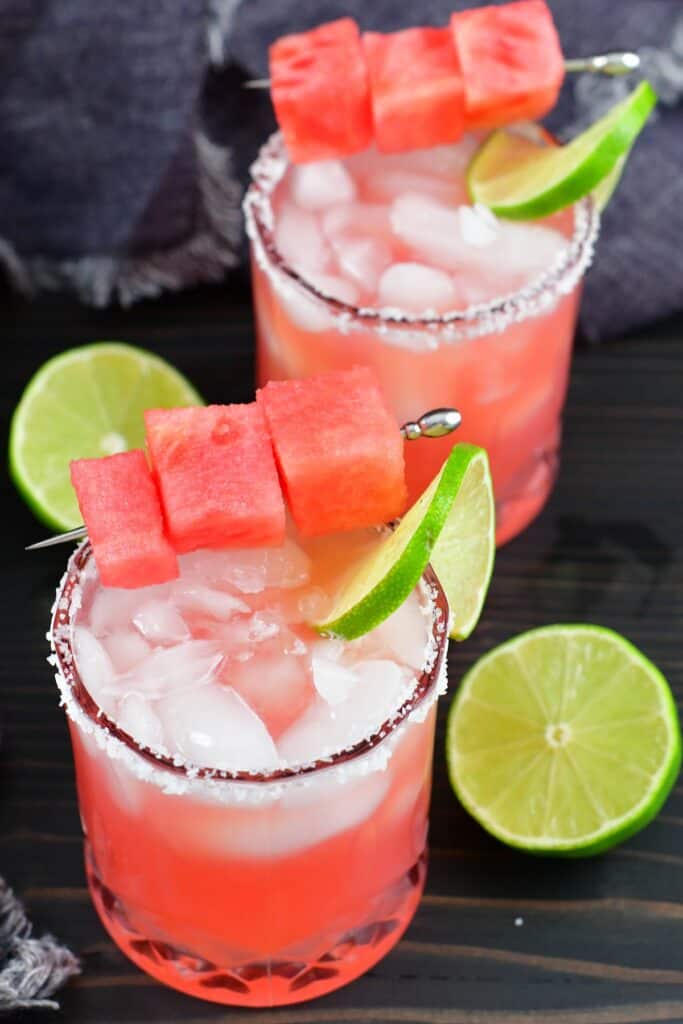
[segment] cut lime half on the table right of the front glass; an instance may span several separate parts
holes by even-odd
[[[681,764],[669,685],[598,626],[522,633],[481,657],[451,708],[453,787],[492,835],[535,853],[586,856],[633,836]]]

